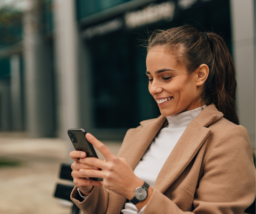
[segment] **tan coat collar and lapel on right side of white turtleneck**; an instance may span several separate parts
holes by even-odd
[[[154,184],[155,189],[164,193],[179,177],[208,137],[210,129],[206,127],[221,117],[223,114],[212,104],[190,122],[164,163]]]

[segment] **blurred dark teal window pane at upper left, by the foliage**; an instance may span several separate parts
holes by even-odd
[[[0,8],[0,48],[22,39],[22,12]]]

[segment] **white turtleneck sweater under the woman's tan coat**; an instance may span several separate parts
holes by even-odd
[[[167,160],[188,124],[205,107],[206,106],[202,106],[191,111],[181,112],[179,114],[166,117],[168,121],[167,126],[159,131],[134,169],[134,173],[138,178],[147,182],[151,187],[154,186],[164,162]],[[83,199],[86,198],[82,196],[81,193],[80,196]],[[126,203],[121,212],[123,212],[123,214],[141,214],[145,207],[146,205],[138,213],[134,204]]]

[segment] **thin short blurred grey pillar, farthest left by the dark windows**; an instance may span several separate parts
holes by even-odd
[[[22,130],[23,122],[21,101],[20,56],[18,54],[11,56],[10,68],[12,130]]]

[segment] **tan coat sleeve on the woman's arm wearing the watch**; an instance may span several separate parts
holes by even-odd
[[[255,199],[255,167],[248,133],[235,126],[218,138],[203,167],[192,212],[184,212],[168,197],[153,190],[143,214],[240,213]]]

